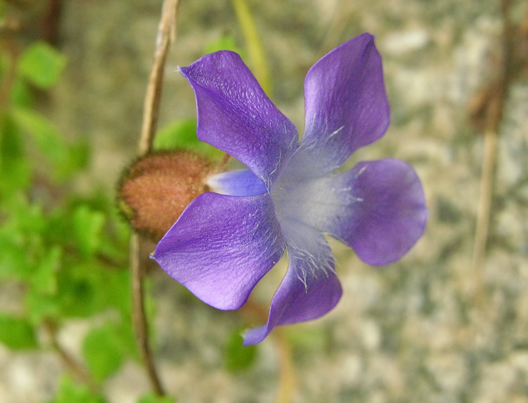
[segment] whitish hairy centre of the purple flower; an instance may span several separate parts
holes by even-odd
[[[323,234],[335,236],[331,230],[347,219],[351,204],[359,201],[347,178],[343,173],[322,174],[300,150],[270,190],[290,260],[303,260],[304,264],[294,266],[301,268],[297,277],[305,285],[310,276],[334,270]]]

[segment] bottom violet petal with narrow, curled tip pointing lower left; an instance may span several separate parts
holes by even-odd
[[[260,343],[275,326],[322,316],[340,300],[341,284],[325,238],[310,227],[299,235],[304,238],[302,248],[288,242],[289,267],[271,301],[268,323],[247,331],[244,345]]]

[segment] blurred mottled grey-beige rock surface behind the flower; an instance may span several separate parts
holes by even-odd
[[[471,269],[483,136],[468,105],[496,74],[502,19],[497,0],[248,1],[272,69],[272,100],[302,132],[303,81],[315,61],[362,32],[376,35],[392,123],[379,142],[351,158],[411,163],[426,191],[427,230],[398,263],[369,267],[333,242],[344,295],[331,313],[285,330],[295,365],[294,402],[528,402],[528,78],[508,89],[499,130],[487,258]],[[60,46],[70,64],[51,114],[64,133],[87,136],[95,155],[82,185],[109,188],[135,155],[161,1],[69,0]],[[528,4],[514,1],[521,22]],[[175,71],[232,33],[243,39],[230,2],[182,0],[166,70],[161,125],[193,117],[194,97]],[[264,306],[284,262],[254,292]],[[479,284],[482,294],[476,295]],[[281,350],[268,338],[251,369],[223,367],[224,344],[248,324],[238,312],[196,301],[154,274],[156,360],[180,402],[268,402],[277,393]],[[251,323],[250,323],[251,322]],[[78,351],[89,324],[62,342]],[[51,353],[0,348],[6,402],[52,396],[62,371]],[[130,362],[106,385],[110,401],[148,390]]]

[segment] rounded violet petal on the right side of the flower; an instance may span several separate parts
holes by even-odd
[[[393,158],[361,162],[341,174],[352,202],[325,231],[371,265],[400,259],[422,236],[427,208],[414,170]]]

